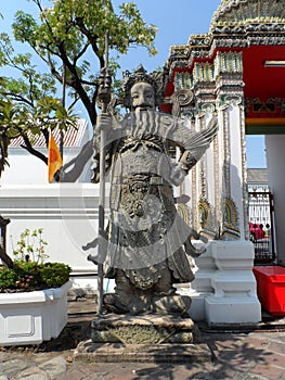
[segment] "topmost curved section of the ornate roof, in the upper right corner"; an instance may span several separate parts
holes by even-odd
[[[223,0],[211,20],[211,30],[220,27],[258,25],[261,30],[285,25],[284,0]]]

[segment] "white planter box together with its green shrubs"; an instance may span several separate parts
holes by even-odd
[[[0,265],[0,345],[39,344],[67,324],[72,268],[47,262],[42,229],[21,233],[14,261]]]

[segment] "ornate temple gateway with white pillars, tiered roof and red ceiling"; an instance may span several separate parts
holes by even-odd
[[[208,259],[196,261],[194,317],[198,313],[209,324],[219,324],[228,321],[223,313],[229,313],[229,321],[257,321],[248,241],[246,135],[265,135],[277,263],[284,265],[284,1],[221,1],[209,33],[172,46],[166,67],[170,83],[164,111],[171,112],[176,94],[183,99],[180,115],[191,117],[196,130],[205,128],[213,114],[219,119],[218,137],[180,190],[191,195],[191,224],[211,240]]]

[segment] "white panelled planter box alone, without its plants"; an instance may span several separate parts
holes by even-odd
[[[0,346],[39,344],[57,338],[67,324],[67,292],[61,288],[0,294]]]

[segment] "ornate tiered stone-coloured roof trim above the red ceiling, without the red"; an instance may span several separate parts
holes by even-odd
[[[208,34],[191,35],[187,45],[170,47],[170,73],[208,60],[217,49],[285,45],[285,0],[222,0]]]

